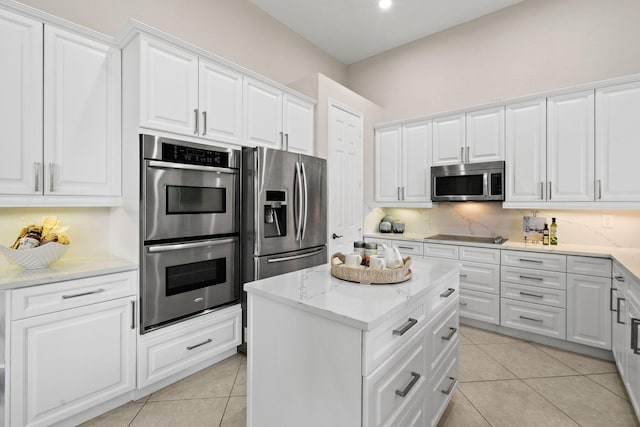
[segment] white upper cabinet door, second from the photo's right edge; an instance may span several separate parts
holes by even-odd
[[[594,91],[548,98],[547,201],[594,200],[594,145]]]

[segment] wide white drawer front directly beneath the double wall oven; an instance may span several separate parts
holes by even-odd
[[[241,329],[238,304],[141,336],[138,388],[242,344]]]

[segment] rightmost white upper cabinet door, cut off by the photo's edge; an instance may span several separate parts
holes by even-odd
[[[596,90],[596,200],[640,201],[640,82]]]

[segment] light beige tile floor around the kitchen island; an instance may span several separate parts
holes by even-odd
[[[640,427],[613,362],[464,325],[460,332],[460,382],[439,427]],[[83,426],[244,427],[246,394],[238,354]]]

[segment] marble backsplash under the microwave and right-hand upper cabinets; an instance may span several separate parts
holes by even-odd
[[[596,246],[640,247],[640,211],[547,210],[535,211],[551,224],[558,223],[558,240],[562,243]],[[440,203],[431,209],[374,208],[364,220],[364,232],[377,232],[384,215],[405,222],[405,232],[424,235],[460,234],[498,236],[522,241],[522,217],[531,216],[530,209],[502,209],[500,203]],[[603,221],[603,217],[604,221]],[[612,228],[604,228],[603,223]]]

